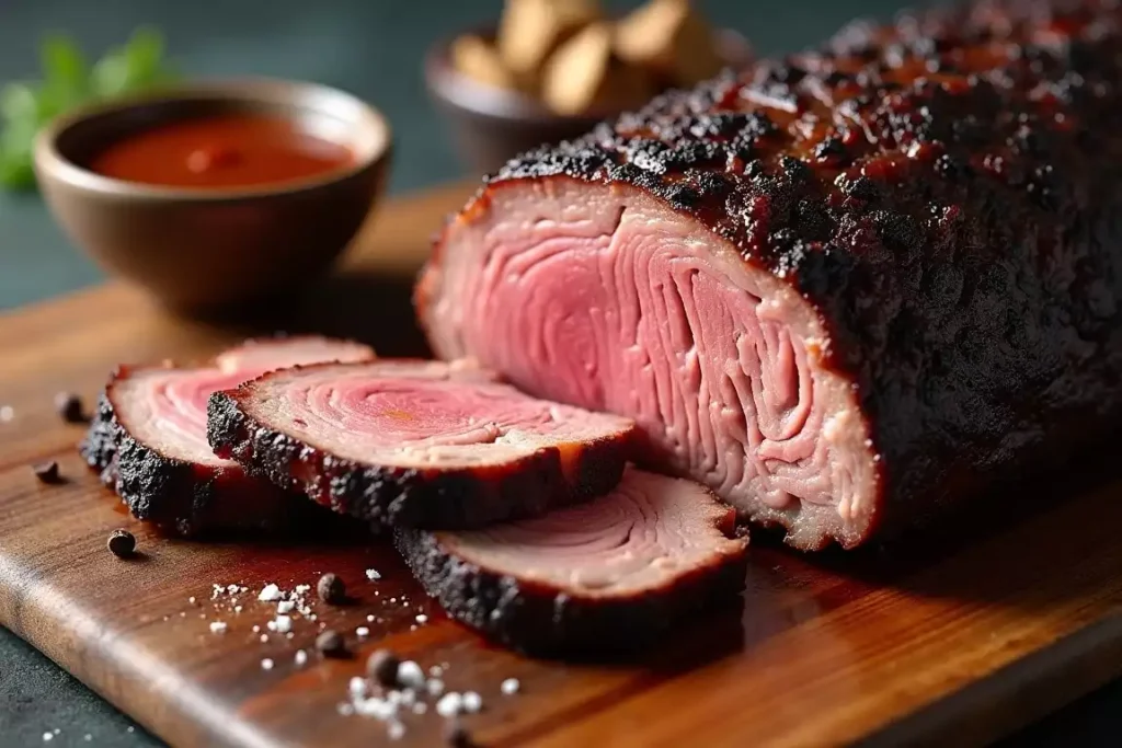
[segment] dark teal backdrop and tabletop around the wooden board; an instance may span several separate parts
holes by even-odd
[[[716,22],[743,31],[762,54],[774,55],[811,45],[855,15],[883,18],[904,3],[700,0],[698,4]],[[499,0],[0,0],[0,83],[35,74],[37,40],[45,33],[73,34],[89,52],[100,53],[122,41],[137,25],[154,24],[187,74],[304,79],[376,103],[395,129],[390,188],[402,192],[465,175],[425,98],[421,61],[434,39],[494,19],[499,6]],[[36,195],[0,194],[0,310],[101,277],[62,238]],[[2,361],[0,351],[0,366]],[[129,732],[130,724],[0,629],[0,746],[158,745],[140,728]],[[55,728],[61,733],[44,744],[44,731]],[[91,742],[83,740],[86,733]],[[370,735],[375,742],[383,732],[371,726]],[[1119,736],[1122,686],[1115,685],[1011,742],[1113,746],[1122,745]]]

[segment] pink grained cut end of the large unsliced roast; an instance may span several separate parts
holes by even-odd
[[[451,229],[422,313],[443,358],[635,418],[656,463],[792,541],[859,535],[874,460],[813,310],[627,187],[500,184]]]

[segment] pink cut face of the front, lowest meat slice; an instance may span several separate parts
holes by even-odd
[[[489,572],[572,595],[655,590],[744,550],[733,511],[691,480],[628,468],[611,492],[534,519],[438,533],[454,555]]]

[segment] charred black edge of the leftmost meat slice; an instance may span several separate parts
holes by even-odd
[[[307,518],[306,501],[270,483],[169,458],[135,438],[112,400],[113,384],[128,375],[113,373],[79,451],[134,517],[180,537],[275,533]]]

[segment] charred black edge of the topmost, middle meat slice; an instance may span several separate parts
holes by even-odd
[[[571,477],[557,447],[482,468],[373,465],[337,458],[257,423],[242,410],[239,394],[211,395],[206,436],[215,454],[376,529],[470,529],[601,496],[619,483],[635,438],[629,432],[581,445]]]

